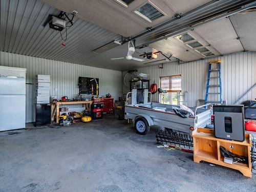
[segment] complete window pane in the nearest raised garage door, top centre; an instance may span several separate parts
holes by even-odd
[[[142,18],[146,19],[148,22],[152,22],[152,20],[164,16],[164,14],[151,3],[143,5],[142,7],[136,9],[134,12]]]

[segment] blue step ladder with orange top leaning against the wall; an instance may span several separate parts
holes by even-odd
[[[209,92],[210,90],[210,92]],[[205,104],[221,104],[221,60],[209,62],[209,70],[206,84]]]

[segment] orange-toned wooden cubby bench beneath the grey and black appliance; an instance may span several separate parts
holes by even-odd
[[[207,161],[239,170],[244,176],[251,177],[250,134],[245,134],[245,141],[230,141],[218,139],[214,136],[214,130],[198,128],[192,133],[194,145],[194,162]],[[239,156],[248,158],[248,163],[228,164],[220,153],[220,146]]]

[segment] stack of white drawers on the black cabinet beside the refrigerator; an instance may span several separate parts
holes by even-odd
[[[49,103],[50,75],[36,75],[36,103]]]

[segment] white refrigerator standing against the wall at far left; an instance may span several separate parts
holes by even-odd
[[[25,128],[26,69],[0,66],[0,131]]]

